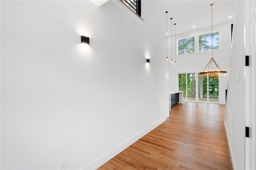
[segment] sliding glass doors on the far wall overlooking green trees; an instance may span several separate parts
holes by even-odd
[[[219,78],[200,77],[198,73],[178,74],[179,91],[184,91],[184,99],[192,101],[218,102]]]

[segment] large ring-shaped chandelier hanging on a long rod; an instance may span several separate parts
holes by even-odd
[[[210,4],[210,6],[213,6],[213,4]],[[212,38],[213,38],[213,34],[212,34]],[[213,69],[213,63],[217,67],[216,70]],[[212,69],[209,69],[210,66],[212,66]],[[207,69],[206,69],[206,67],[207,67]],[[227,73],[226,70],[220,69],[218,64],[214,61],[214,58],[213,58],[213,47],[212,47],[212,58],[210,59],[209,63],[206,65],[206,67],[204,67],[203,71],[199,72],[200,77],[207,76],[207,75],[209,75],[210,77],[215,77],[217,75],[226,75],[226,73]]]

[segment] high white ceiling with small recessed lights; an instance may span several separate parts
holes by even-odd
[[[210,4],[214,4],[212,6],[213,25],[232,22],[234,19],[235,0],[163,0],[159,2],[161,3],[159,10],[162,10],[164,15],[168,11],[168,30],[171,26],[170,18],[173,18],[172,24],[176,23],[176,34],[211,26]],[[229,18],[230,16],[232,18]],[[174,26],[172,28],[174,29]]]

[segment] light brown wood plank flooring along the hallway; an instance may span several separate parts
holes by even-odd
[[[98,170],[232,170],[225,105],[184,102]]]

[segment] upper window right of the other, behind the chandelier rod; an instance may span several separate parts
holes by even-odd
[[[198,36],[198,51],[220,49],[219,32],[213,32]]]

